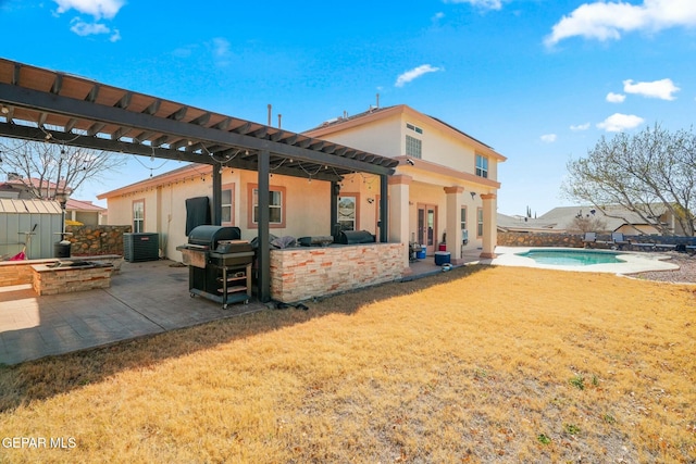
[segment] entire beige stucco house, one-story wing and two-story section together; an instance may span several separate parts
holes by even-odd
[[[417,241],[428,252],[446,236],[452,261],[460,259],[462,229],[470,249],[493,255],[496,246],[497,165],[506,160],[467,134],[406,106],[369,112],[322,124],[304,135],[400,161],[389,176],[389,241]],[[290,161],[291,162],[291,161]],[[283,237],[332,235],[331,183],[273,174],[271,166],[271,234]],[[324,167],[327,168],[327,167]],[[169,173],[100,195],[109,224],[133,225],[134,231],[159,233],[163,254],[179,260],[186,243],[187,199],[212,198],[209,165],[189,164]],[[243,239],[257,236],[256,172],[221,167],[223,225],[237,226]],[[380,178],[363,173],[339,185],[338,224],[378,237]],[[318,203],[320,202],[320,203]],[[326,202],[324,204],[323,202]],[[408,267],[408,253],[403,266]]]

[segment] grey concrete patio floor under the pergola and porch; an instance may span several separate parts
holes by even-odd
[[[478,261],[478,253],[465,256]],[[442,272],[411,263],[407,279]],[[190,298],[188,267],[169,260],[124,262],[111,287],[38,296],[30,285],[0,287],[0,365],[69,353],[266,309],[258,300],[222,310]]]

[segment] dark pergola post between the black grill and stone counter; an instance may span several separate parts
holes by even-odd
[[[271,222],[271,154],[268,150],[259,152],[258,161],[258,202],[259,202],[259,236],[257,250],[257,284],[259,301],[265,303],[271,301],[271,246],[270,246],[270,222]],[[253,212],[252,212],[253,214]]]

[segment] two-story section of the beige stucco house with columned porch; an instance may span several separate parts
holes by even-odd
[[[445,242],[455,262],[463,241],[493,256],[498,163],[506,160],[493,148],[403,104],[332,120],[304,134],[400,160],[389,179],[389,240],[422,243],[428,254]],[[344,181],[341,196],[352,196],[364,209],[361,196],[368,195],[368,204],[374,204],[374,193],[364,189],[371,180]],[[360,215],[357,228],[374,228],[375,217]]]

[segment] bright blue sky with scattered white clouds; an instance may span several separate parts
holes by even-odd
[[[567,164],[601,137],[696,114],[696,0],[0,0],[0,20],[2,58],[262,124],[272,104],[293,131],[407,104],[508,158],[510,215],[574,204]],[[129,155],[75,198],[176,167]]]

